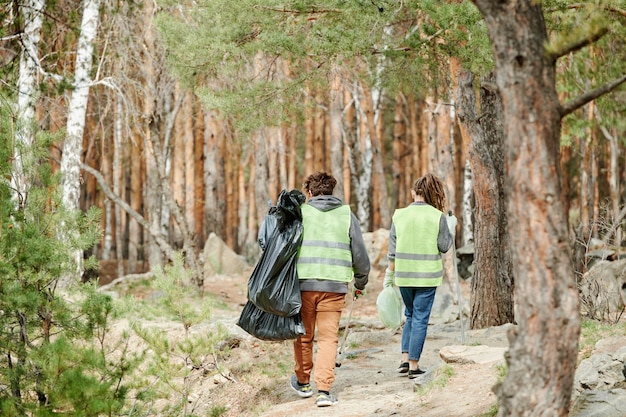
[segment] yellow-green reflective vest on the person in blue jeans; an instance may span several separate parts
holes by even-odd
[[[398,287],[441,285],[443,262],[437,247],[441,214],[428,204],[410,205],[394,213],[395,283]]]

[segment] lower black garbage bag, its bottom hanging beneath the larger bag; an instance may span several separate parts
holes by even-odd
[[[251,301],[243,307],[237,326],[257,339],[270,341],[296,339],[306,333],[300,313],[291,317],[277,316],[266,313]]]

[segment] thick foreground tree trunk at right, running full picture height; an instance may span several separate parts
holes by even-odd
[[[504,108],[505,192],[518,328],[499,416],[567,416],[580,315],[560,185],[561,106],[541,7],[474,0],[485,18]]]

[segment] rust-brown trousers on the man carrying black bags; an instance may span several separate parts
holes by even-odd
[[[337,345],[339,344],[339,320],[345,305],[346,295],[318,291],[303,291],[301,294],[301,314],[306,334],[293,342],[296,377],[302,384],[311,380],[313,342],[317,327],[315,385],[318,390],[330,391],[330,387],[335,381],[335,361],[337,360]]]

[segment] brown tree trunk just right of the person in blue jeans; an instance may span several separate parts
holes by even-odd
[[[469,154],[477,219],[470,327],[482,329],[514,321],[513,274],[503,184],[502,100],[496,90],[483,83],[477,104],[471,73],[463,71],[458,79],[458,117],[471,138]],[[484,81],[493,83],[493,77],[486,77]]]

